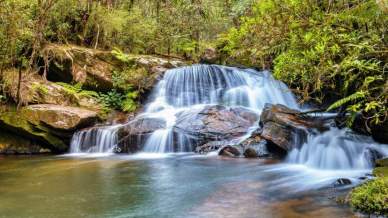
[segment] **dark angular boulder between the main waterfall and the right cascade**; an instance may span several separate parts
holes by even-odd
[[[265,105],[260,126],[261,137],[286,152],[302,145],[309,131],[327,129],[323,119],[304,115],[279,104]]]

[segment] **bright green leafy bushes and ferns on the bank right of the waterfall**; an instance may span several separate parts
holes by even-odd
[[[302,102],[337,101],[330,110],[376,124],[388,116],[387,13],[372,0],[258,1],[219,47],[230,61],[272,68]]]

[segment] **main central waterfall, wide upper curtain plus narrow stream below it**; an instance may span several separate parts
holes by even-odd
[[[258,114],[266,103],[298,108],[287,86],[273,79],[269,72],[218,65],[169,70],[154,90],[152,99],[141,116],[164,119],[167,125],[148,138],[145,152],[192,151],[188,139],[173,133],[176,115],[196,113],[206,105],[242,106]],[[175,149],[173,141],[178,142]]]

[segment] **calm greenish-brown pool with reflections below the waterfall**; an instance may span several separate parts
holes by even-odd
[[[139,154],[0,162],[0,217],[353,216],[328,187],[343,173],[320,178],[264,160]]]

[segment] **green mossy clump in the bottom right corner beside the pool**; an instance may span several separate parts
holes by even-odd
[[[388,179],[376,178],[352,190],[350,204],[368,214],[388,214]]]

